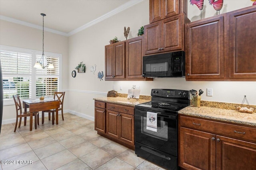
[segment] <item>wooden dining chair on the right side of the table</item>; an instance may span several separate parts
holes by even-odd
[[[54,99],[58,98],[58,100],[60,101],[60,107],[58,108],[58,111],[61,110],[62,120],[64,120],[64,117],[63,117],[64,96],[65,96],[65,92],[54,92]],[[57,115],[58,115],[58,111],[56,113]],[[54,125],[54,112],[55,112],[55,109],[42,111],[42,124],[44,124],[44,112],[48,113],[48,119],[49,120],[51,120],[51,113],[52,113],[52,124]]]

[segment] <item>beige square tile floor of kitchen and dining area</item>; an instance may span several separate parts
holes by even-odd
[[[42,125],[40,118],[32,131],[29,121],[15,133],[14,123],[2,125],[0,160],[14,164],[1,164],[0,170],[163,170],[134,150],[98,135],[93,121],[70,113],[64,114],[64,121],[59,116],[58,125],[48,117]]]

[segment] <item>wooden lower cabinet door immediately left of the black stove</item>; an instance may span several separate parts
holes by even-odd
[[[120,141],[134,145],[134,116],[120,113]]]

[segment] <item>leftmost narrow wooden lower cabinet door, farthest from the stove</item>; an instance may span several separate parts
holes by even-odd
[[[94,122],[94,129],[98,132],[102,132],[105,133],[105,109],[100,109],[95,107],[94,110],[94,114],[95,114],[95,122]]]

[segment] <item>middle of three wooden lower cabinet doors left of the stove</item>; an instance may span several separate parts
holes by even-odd
[[[119,113],[106,110],[106,134],[110,137],[119,138]]]

